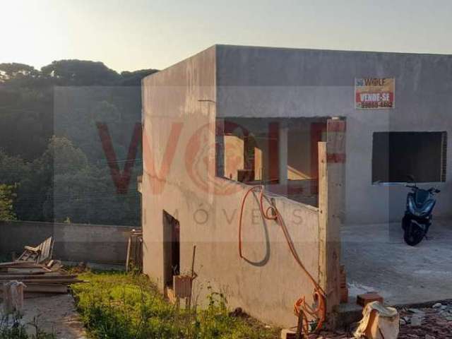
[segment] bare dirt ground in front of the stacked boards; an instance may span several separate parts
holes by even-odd
[[[30,335],[35,334],[34,319],[39,328],[54,333],[58,339],[87,338],[71,295],[25,299],[23,323]]]

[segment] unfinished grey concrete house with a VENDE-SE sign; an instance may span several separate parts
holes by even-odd
[[[171,292],[196,245],[198,300],[211,286],[268,323],[295,326],[295,303],[328,321],[341,261],[362,277],[366,234],[403,216],[396,183],[436,183],[451,215],[451,74],[447,56],[216,45],[148,76],[144,272]]]

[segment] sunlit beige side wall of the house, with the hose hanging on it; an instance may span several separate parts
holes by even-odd
[[[192,246],[197,246],[198,302],[206,300],[211,286],[225,293],[230,307],[294,326],[293,304],[303,295],[309,300],[313,286],[292,258],[282,230],[263,220],[252,195],[244,206],[246,260],[239,257],[239,206],[249,186],[215,177],[216,55],[212,47],[143,80],[144,272],[164,288],[165,210],[180,223],[182,273],[189,271]],[[317,277],[318,209],[273,199],[299,257]]]

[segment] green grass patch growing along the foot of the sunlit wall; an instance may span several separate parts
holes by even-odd
[[[143,275],[83,273],[90,283],[73,285],[78,311],[93,338],[278,338],[278,329],[232,316],[220,293],[206,309],[186,311],[169,304]]]

